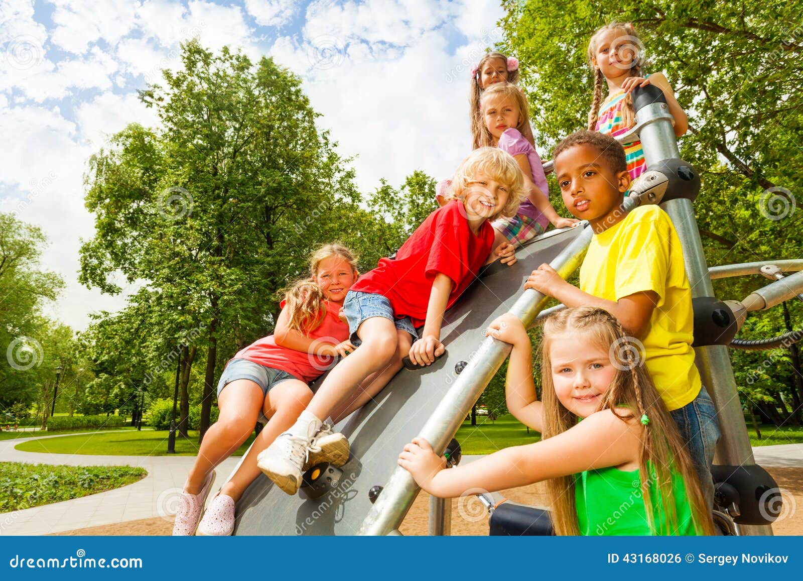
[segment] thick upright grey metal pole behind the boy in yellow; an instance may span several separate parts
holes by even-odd
[[[649,168],[652,164],[664,159],[680,158],[678,141],[672,127],[669,108],[666,103],[654,102],[639,108],[636,112],[636,124],[657,119],[646,125],[639,137],[644,149],[644,158]],[[700,241],[697,221],[692,203],[688,199],[674,199],[662,204],[669,214],[675,230],[678,231],[683,246],[683,260],[691,285],[692,297],[713,297],[714,287],[703,254],[703,243]],[[753,458],[747,426],[736,389],[728,347],[712,345],[695,348],[696,362],[707,387],[714,400],[719,419],[719,430],[722,438],[717,446],[717,464],[756,464]],[[771,526],[743,525],[742,534],[772,534]]]

